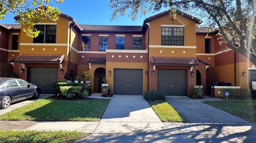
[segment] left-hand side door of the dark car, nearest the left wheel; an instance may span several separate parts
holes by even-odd
[[[12,96],[12,102],[17,101],[22,97],[22,92],[15,79],[7,80],[5,88],[8,90],[8,94]]]

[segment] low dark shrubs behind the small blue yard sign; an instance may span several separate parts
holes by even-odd
[[[221,89],[222,92],[229,92],[229,99],[247,99],[250,97],[250,91],[248,89]],[[226,97],[225,97],[226,98]]]

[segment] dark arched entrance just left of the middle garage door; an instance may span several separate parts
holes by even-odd
[[[106,78],[106,69],[97,68],[94,71],[94,93],[101,92],[101,84],[104,83],[103,79]]]

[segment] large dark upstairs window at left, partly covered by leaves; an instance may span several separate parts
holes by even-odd
[[[33,43],[56,43],[56,29],[56,25],[36,24],[34,31],[40,30],[40,33],[33,39]]]

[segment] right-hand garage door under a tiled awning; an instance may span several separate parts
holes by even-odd
[[[165,95],[187,96],[187,70],[158,69],[157,90]]]

